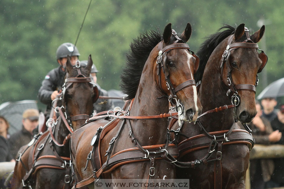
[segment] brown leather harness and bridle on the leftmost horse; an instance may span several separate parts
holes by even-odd
[[[57,146],[65,146],[65,144],[67,142],[69,142],[71,133],[73,133],[73,129],[70,127],[71,125],[71,121],[75,121],[75,120],[86,120],[88,119],[90,116],[86,115],[86,114],[80,114],[80,115],[74,115],[74,116],[67,116],[67,111],[62,111],[62,108],[65,108],[67,110],[66,104],[64,103],[64,94],[66,92],[66,89],[68,89],[73,83],[91,83],[91,78],[90,77],[86,77],[81,73],[80,70],[80,63],[79,66],[77,66],[77,62],[76,62],[76,68],[78,75],[74,78],[67,78],[65,79],[65,83],[63,84],[63,91],[61,94],[58,95],[59,98],[56,98],[52,101],[52,108],[51,108],[51,113],[50,113],[50,117],[46,122],[46,126],[48,127],[49,131],[46,131],[44,133],[39,133],[38,135],[36,135],[34,137],[34,139],[29,143],[28,147],[24,150],[24,152],[30,147],[32,146],[34,143],[35,145],[33,146],[33,153],[32,153],[32,158],[29,158],[29,162],[28,162],[28,167],[31,167],[30,169],[28,169],[25,164],[22,162],[21,156],[22,154],[24,154],[24,152],[20,153],[19,158],[17,159],[17,162],[21,162],[25,171],[26,171],[26,175],[23,177],[22,179],[22,183],[21,186],[23,188],[28,187],[31,189],[31,179],[32,176],[35,175],[37,173],[38,170],[42,169],[42,168],[51,168],[51,169],[60,169],[60,170],[65,170],[66,174],[64,177],[64,182],[66,183],[64,185],[64,188],[70,188],[70,184],[72,183],[71,180],[71,170],[70,170],[70,166],[71,166],[71,159],[70,157],[61,157],[59,156],[59,154],[57,153],[57,151],[54,149],[54,146],[51,144],[51,140],[54,142],[54,144],[56,144]],[[83,77],[82,77],[83,76]],[[91,83],[93,84],[93,83]],[[95,84],[93,84],[94,87],[96,87]],[[96,87],[97,89],[97,87]],[[96,93],[97,95],[94,98],[98,98],[99,93]],[[57,101],[61,100],[62,101],[62,106],[58,107],[57,106]],[[63,106],[65,104],[65,107]],[[54,107],[55,106],[55,107]],[[66,128],[68,129],[68,131],[70,132],[66,138],[63,141],[63,144],[59,144],[54,135],[53,132],[55,131],[55,127],[57,126],[58,122],[55,122],[53,119],[53,113],[54,111],[56,113],[59,113],[59,118],[58,119],[62,119],[64,125],[66,126]],[[69,119],[68,119],[69,118]],[[68,121],[67,121],[68,120]],[[68,123],[69,122],[69,123]],[[53,129],[54,128],[54,129]],[[45,139],[45,140],[44,140]],[[46,146],[48,139],[50,139],[49,144],[50,147],[53,149],[54,155],[44,155],[44,156],[40,156],[42,149]],[[43,141],[40,145],[39,143]],[[39,147],[38,147],[39,145]]]

